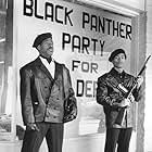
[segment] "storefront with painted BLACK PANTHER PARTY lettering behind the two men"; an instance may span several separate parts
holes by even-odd
[[[78,101],[78,117],[65,124],[63,151],[103,151],[105,118],[96,103],[97,78],[111,68],[107,58],[116,48],[127,50],[126,69],[138,74],[152,53],[151,10],[150,0],[1,0],[0,151],[21,150],[25,127],[18,71],[37,56],[31,45],[43,31],[53,34],[54,59],[69,68]],[[130,152],[152,151],[151,65],[150,60],[143,98],[135,110]],[[40,152],[46,151],[43,141]]]

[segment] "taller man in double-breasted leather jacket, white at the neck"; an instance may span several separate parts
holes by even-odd
[[[52,59],[51,33],[38,35],[33,47],[39,56],[20,71],[22,116],[26,126],[22,152],[38,152],[45,137],[49,152],[62,152],[64,101],[71,98],[76,105],[69,72]]]

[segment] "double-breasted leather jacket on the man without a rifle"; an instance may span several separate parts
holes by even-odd
[[[55,62],[53,79],[40,59],[37,58],[23,66],[20,74],[24,124],[36,122],[63,123],[64,101],[69,96],[68,90],[73,89],[69,72],[65,65]],[[75,97],[73,96],[73,98]]]

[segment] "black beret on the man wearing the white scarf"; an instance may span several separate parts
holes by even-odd
[[[51,33],[45,33],[41,35],[38,35],[34,41],[33,47],[37,48],[45,39],[47,38],[52,38],[52,34]]]

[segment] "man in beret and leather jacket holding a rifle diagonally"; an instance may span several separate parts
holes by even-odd
[[[104,152],[115,152],[116,145],[117,152],[129,150],[132,102],[141,98],[143,77],[141,75],[134,77],[124,71],[126,59],[123,49],[114,50],[109,58],[113,63],[112,69],[98,78],[97,102],[103,105],[106,125]],[[130,90],[132,91],[129,92]]]

